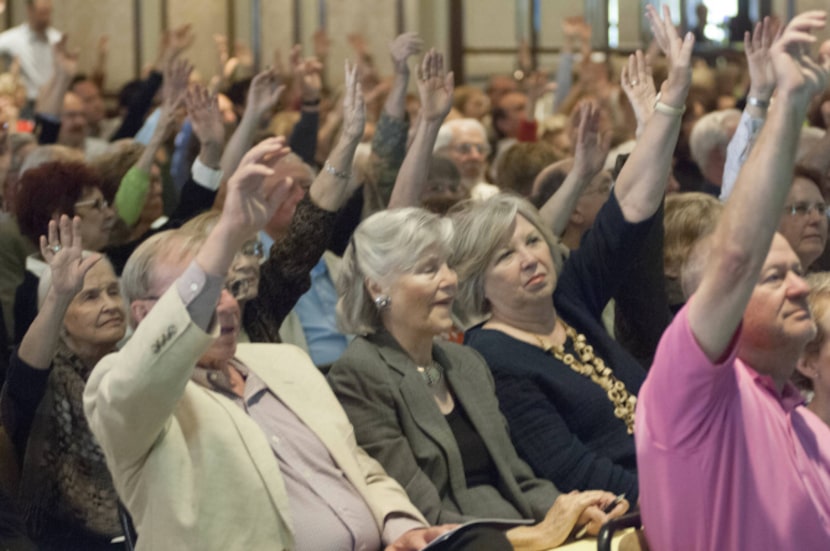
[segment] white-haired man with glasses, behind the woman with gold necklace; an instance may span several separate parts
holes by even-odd
[[[487,130],[476,119],[453,119],[442,124],[433,151],[455,163],[461,184],[473,199],[486,199],[499,192],[498,186],[484,178],[490,144]]]

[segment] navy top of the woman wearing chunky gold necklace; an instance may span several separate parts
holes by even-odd
[[[553,295],[560,318],[585,335],[634,395],[646,372],[605,330],[602,310],[619,291],[620,274],[637,257],[654,221],[626,222],[612,193],[565,263]],[[490,366],[513,443],[538,476],[564,492],[601,489],[636,501],[634,438],[599,385],[501,331],[477,327],[465,340]]]

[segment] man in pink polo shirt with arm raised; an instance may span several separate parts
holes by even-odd
[[[830,71],[807,53],[825,22],[801,14],[770,47],[775,105],[640,391],[654,551],[830,549],[830,428],[788,382],[816,329],[798,257],[775,233],[807,104]]]

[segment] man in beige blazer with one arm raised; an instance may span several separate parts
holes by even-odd
[[[290,491],[296,482],[282,469],[276,437],[264,432],[268,421],[252,416],[250,402],[235,403],[230,393],[191,378],[211,354],[236,349],[236,332],[228,331],[233,316],[227,316],[235,299],[222,284],[235,252],[290,193],[290,181],[267,178],[269,165],[285,151],[282,140],[274,139],[245,156],[203,245],[192,235],[159,234],[125,268],[128,295],[131,288],[144,290],[128,296],[138,326],[121,351],[94,369],[84,409],[132,514],[139,549],[294,549],[300,535],[319,541],[314,538],[332,530],[344,535],[338,548],[352,545],[350,538],[372,541],[361,539],[365,532],[350,534],[349,523],[345,530],[323,519],[314,523],[317,517],[303,509],[310,494],[297,499]],[[238,311],[237,305],[237,330]],[[202,370],[206,379],[226,377],[231,389],[261,381],[267,388],[262,395],[299,420],[286,422],[306,430],[328,452],[312,460],[342,474],[341,490],[362,499],[368,511],[362,518],[359,510],[335,516],[364,527],[368,517],[374,540],[401,551],[418,549],[447,530],[427,528],[403,489],[357,446],[348,418],[305,353],[267,344],[237,352],[227,372]],[[319,497],[335,507],[328,495]]]

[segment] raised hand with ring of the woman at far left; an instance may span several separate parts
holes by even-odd
[[[52,291],[59,297],[71,299],[84,286],[84,276],[100,254],[83,258],[81,219],[61,215],[60,222],[49,221],[48,237],[40,236],[40,254],[52,270]]]

